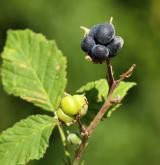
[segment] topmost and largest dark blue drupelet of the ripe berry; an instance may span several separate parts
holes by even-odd
[[[115,29],[112,24],[105,23],[97,27],[94,38],[97,43],[107,45],[115,36]]]

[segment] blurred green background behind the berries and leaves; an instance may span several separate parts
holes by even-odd
[[[85,152],[87,165],[160,164],[160,1],[159,0],[0,0],[0,50],[8,29],[30,28],[56,40],[68,59],[67,92],[105,77],[105,66],[84,60],[80,49],[83,32],[114,17],[122,52],[113,59],[115,76],[137,64],[132,89],[122,107],[101,122]],[[0,131],[41,110],[8,96],[0,85]],[[63,154],[58,132],[40,161],[30,165],[61,165]]]

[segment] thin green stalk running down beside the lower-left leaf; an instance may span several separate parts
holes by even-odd
[[[66,139],[64,130],[63,130],[61,124],[59,123],[59,121],[58,121],[57,126],[58,126],[58,130],[59,130],[59,133],[60,133],[60,136],[61,136],[61,139],[62,139],[62,143],[63,143],[63,147],[64,147],[64,154],[65,154],[65,157],[66,157],[66,160],[64,160],[64,163],[66,165],[71,165],[70,153],[68,151],[68,146],[67,146],[67,139]]]

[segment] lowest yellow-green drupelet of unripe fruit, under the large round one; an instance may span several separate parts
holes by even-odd
[[[60,121],[66,124],[72,123],[74,121],[74,118],[72,116],[65,114],[61,108],[58,108],[58,110],[56,111],[56,115]]]

